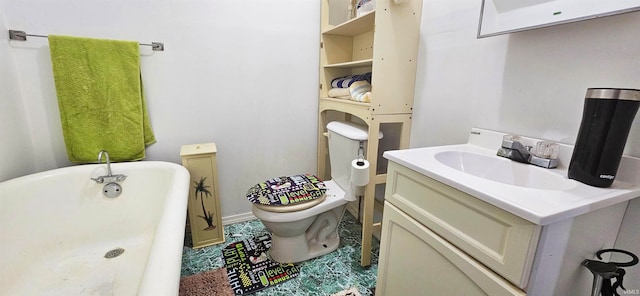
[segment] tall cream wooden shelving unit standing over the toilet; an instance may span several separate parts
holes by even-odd
[[[348,209],[362,223],[362,266],[371,265],[371,242],[380,233],[374,223],[376,187],[386,182],[382,152],[409,147],[415,72],[419,44],[422,0],[376,0],[376,10],[339,25],[329,24],[329,0],[322,0],[320,90],[318,104],[318,175],[330,179],[327,123],[333,120],[366,124],[369,130],[366,155],[372,169],[361,204]],[[372,73],[371,103],[329,98],[334,78]],[[384,139],[378,139],[384,130]]]

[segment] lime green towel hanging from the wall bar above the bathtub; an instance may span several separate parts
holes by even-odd
[[[62,132],[69,160],[140,160],[155,143],[133,41],[49,36]]]

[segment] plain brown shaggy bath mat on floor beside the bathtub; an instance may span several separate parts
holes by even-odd
[[[218,268],[180,279],[179,296],[233,296],[227,269]]]

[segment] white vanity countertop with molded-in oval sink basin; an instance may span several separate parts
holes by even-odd
[[[474,128],[466,144],[385,151],[409,168],[538,225],[548,225],[640,197],[640,158],[623,156],[609,188],[571,180],[573,147],[560,144],[558,167],[545,169],[496,155],[506,133]],[[540,139],[523,137],[524,144]],[[388,176],[394,182],[393,175]]]

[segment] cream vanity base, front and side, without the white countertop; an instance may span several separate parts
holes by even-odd
[[[540,225],[390,160],[376,295],[589,295],[627,204]]]

